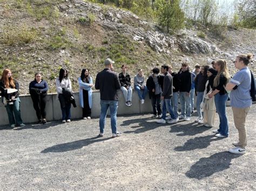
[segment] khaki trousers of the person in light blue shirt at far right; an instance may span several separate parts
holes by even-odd
[[[239,135],[238,145],[242,148],[245,148],[247,145],[245,119],[250,109],[251,107],[247,107],[247,108],[232,107],[233,116],[234,116],[234,125],[235,125],[235,128],[237,128],[238,135]]]

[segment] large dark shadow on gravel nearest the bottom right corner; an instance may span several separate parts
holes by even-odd
[[[231,154],[227,151],[215,153],[210,157],[201,158],[185,174],[188,178],[201,180],[229,168],[231,160],[238,157],[239,154]]]

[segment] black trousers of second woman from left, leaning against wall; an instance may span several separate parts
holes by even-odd
[[[47,94],[31,94],[33,107],[36,110],[36,116],[39,119],[41,117],[45,119],[46,117],[46,111],[45,111],[45,105],[46,105],[46,95]]]

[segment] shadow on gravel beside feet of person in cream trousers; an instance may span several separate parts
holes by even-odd
[[[200,133],[203,133],[204,131],[209,130],[210,128],[206,128],[202,124],[198,123],[188,123],[188,124],[174,124],[171,126],[170,133],[177,133],[177,136],[194,136]]]

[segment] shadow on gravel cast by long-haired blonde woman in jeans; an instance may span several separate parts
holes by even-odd
[[[222,138],[217,138],[215,135],[208,135],[205,137],[196,137],[194,139],[189,139],[183,146],[177,146],[174,151],[192,151],[195,149],[203,149],[215,142],[216,140],[221,140]]]

